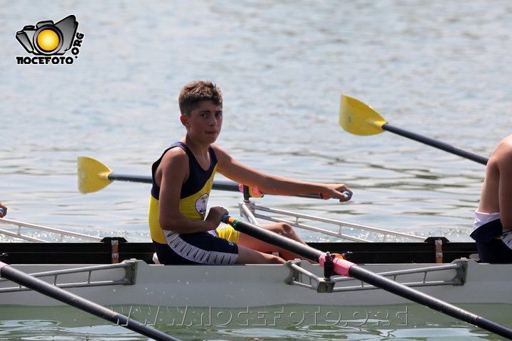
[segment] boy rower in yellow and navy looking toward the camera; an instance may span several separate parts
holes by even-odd
[[[235,161],[213,143],[223,123],[223,99],[212,82],[185,85],[178,98],[181,124],[186,135],[172,144],[152,168],[153,186],[149,204],[151,239],[161,264],[282,264],[276,251],[232,227],[218,228],[228,210],[206,207],[215,172],[264,193],[294,195],[319,193],[322,198],[349,200],[343,184],[321,184],[268,175]],[[352,194],[352,193],[351,193]],[[288,224],[263,227],[302,242]],[[304,243],[304,242],[302,242]],[[278,250],[285,259],[296,258]]]

